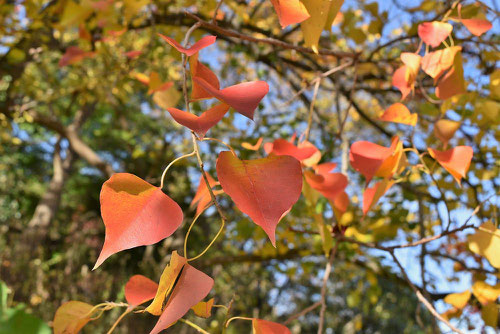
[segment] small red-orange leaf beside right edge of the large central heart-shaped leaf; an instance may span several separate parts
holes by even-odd
[[[311,186],[330,201],[340,195],[347,187],[347,177],[342,173],[330,173],[332,164],[326,166],[319,165],[316,173],[311,171],[304,172],[304,177]]]

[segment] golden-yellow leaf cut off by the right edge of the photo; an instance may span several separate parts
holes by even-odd
[[[500,230],[492,222],[481,225],[476,233],[467,237],[469,249],[486,258],[495,268],[500,268]]]

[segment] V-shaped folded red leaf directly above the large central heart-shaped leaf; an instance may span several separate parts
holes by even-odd
[[[225,103],[217,104],[215,107],[203,112],[200,116],[176,108],[168,108],[167,111],[177,123],[193,130],[198,137],[203,138],[208,130],[219,123],[229,111],[229,105]]]

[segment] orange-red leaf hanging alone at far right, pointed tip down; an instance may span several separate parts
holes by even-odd
[[[470,146],[457,146],[447,151],[428,149],[429,154],[444,169],[446,169],[460,185],[461,179],[466,176],[472,160],[473,150]]]

